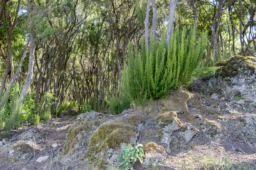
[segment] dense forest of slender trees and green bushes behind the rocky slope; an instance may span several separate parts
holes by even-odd
[[[0,6],[2,138],[19,127],[49,126],[67,111],[119,115],[214,76],[216,63],[256,55],[255,0],[0,0]]]

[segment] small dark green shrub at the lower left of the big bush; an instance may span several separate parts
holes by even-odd
[[[116,115],[122,113],[123,110],[130,108],[131,103],[122,93],[119,97],[112,96],[109,101],[109,113]]]

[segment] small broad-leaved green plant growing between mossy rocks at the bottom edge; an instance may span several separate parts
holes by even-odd
[[[141,148],[143,147],[142,144],[135,144],[134,147],[132,146],[125,146],[122,149],[124,150],[118,158],[121,158],[122,161],[119,162],[119,166],[123,167],[125,170],[133,170],[133,165],[139,159],[140,164],[143,163],[144,151]]]

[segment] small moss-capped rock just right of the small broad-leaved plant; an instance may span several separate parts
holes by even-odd
[[[152,164],[162,162],[167,158],[164,147],[154,142],[149,142],[144,145],[144,153],[145,159],[143,160],[143,167],[151,167]]]

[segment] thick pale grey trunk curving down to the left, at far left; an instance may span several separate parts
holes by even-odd
[[[18,101],[19,107],[23,103],[26,95],[28,94],[28,91],[33,79],[34,56],[35,56],[35,32],[31,31],[30,32],[30,49],[29,49],[29,67],[28,67],[28,73],[26,76],[26,81],[19,97],[19,101]]]

